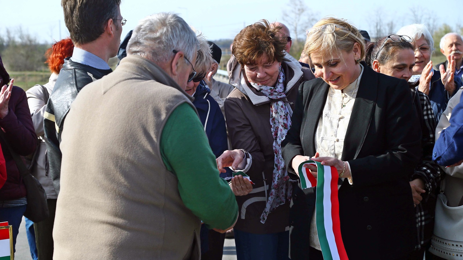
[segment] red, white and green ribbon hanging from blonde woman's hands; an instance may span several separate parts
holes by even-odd
[[[317,179],[305,164],[317,166]],[[318,161],[304,161],[299,165],[300,184],[303,189],[316,189],[316,223],[324,260],[348,260],[341,237],[338,201],[338,170]]]

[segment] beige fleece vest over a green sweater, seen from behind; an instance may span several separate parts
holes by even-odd
[[[60,145],[53,259],[200,258],[200,220],[159,148],[169,115],[185,102],[192,105],[162,69],[137,56],[81,90]]]

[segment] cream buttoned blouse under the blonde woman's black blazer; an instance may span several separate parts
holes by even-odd
[[[343,90],[332,87],[328,90],[325,107],[315,132],[315,150],[319,152],[320,157],[329,156],[340,160],[343,155],[344,137],[363,74],[363,65],[360,64],[360,67],[362,72],[349,86]],[[346,167],[350,168],[347,162]],[[350,179],[349,182],[352,183],[352,180]],[[321,250],[315,213],[316,210],[313,211],[310,222],[310,246]]]

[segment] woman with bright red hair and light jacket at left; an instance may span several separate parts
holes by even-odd
[[[64,58],[72,56],[74,44],[70,38],[63,39],[54,43],[50,49],[47,50],[46,63],[50,68],[51,76],[48,83],[42,85],[35,85],[26,91],[27,102],[29,103],[29,110],[31,111],[32,122],[34,124],[35,133],[41,139],[40,146],[34,161],[31,164],[31,173],[42,184],[47,193],[48,209],[50,210],[50,217],[39,223],[34,223],[32,229],[32,222],[26,219],[26,233],[31,248],[31,254],[38,254],[38,259],[52,259],[53,258],[53,222],[55,221],[56,210],[56,192],[53,187],[53,182],[50,176],[46,173],[46,156],[45,140],[44,140],[44,111],[48,98],[53,91],[56,79],[58,78],[59,71],[63,68]],[[35,238],[34,231],[35,229]],[[37,243],[37,250],[34,246]]]

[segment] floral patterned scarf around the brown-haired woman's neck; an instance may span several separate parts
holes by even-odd
[[[263,86],[250,82],[250,85],[259,90],[270,99],[279,99],[272,101],[270,105],[270,125],[273,134],[273,150],[275,152],[275,167],[273,169],[272,187],[269,194],[269,200],[261,215],[261,223],[265,223],[270,212],[276,207],[282,205],[291,198],[292,184],[289,182],[288,171],[282,157],[282,141],[285,139],[288,129],[291,126],[291,115],[288,104],[281,99],[285,99],[285,87],[283,82],[285,74],[280,66],[280,74],[275,87]]]

